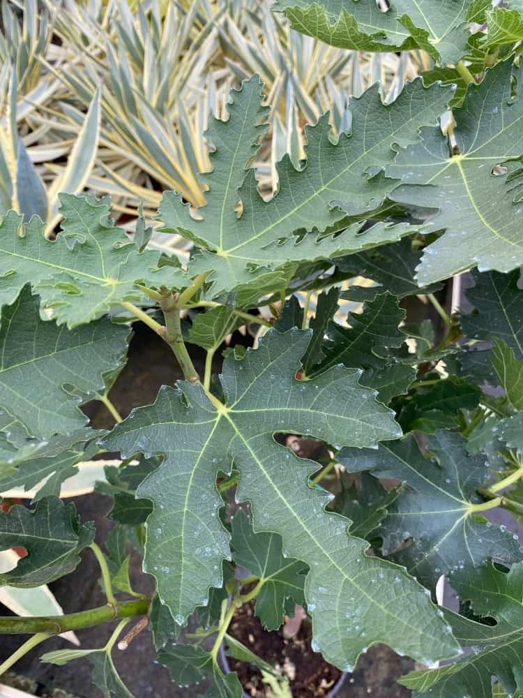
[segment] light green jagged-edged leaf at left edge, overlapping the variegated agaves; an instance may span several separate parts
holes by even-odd
[[[57,324],[71,329],[123,301],[144,299],[137,282],[155,288],[184,285],[180,269],[159,269],[160,253],[140,251],[122,228],[108,221],[106,202],[62,194],[60,212],[65,220],[56,242],[45,239],[38,218],[23,226],[13,212],[3,219],[2,304],[13,303],[30,283],[43,309],[52,309]]]

